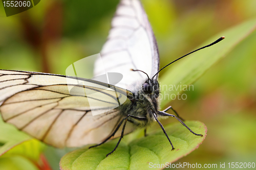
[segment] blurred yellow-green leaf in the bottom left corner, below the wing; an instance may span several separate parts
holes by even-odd
[[[3,122],[0,116],[0,169],[38,170],[45,144]]]

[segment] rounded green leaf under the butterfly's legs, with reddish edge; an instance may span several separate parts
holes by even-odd
[[[150,162],[153,164],[174,162],[197,149],[206,136],[207,128],[203,123],[187,121],[185,124],[194,132],[203,134],[204,137],[196,136],[180,123],[175,123],[165,127],[175,147],[174,151],[163,131],[158,130],[130,143],[121,141],[117,150],[108,157],[106,154],[115,148],[118,139],[92,149],[88,149],[88,145],[75,150],[61,158],[60,169],[152,169]]]

